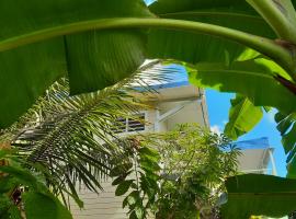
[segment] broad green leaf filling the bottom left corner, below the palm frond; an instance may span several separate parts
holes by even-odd
[[[1,149],[2,151],[3,149]],[[0,165],[0,218],[21,219],[71,219],[71,214],[61,205],[45,185],[45,181],[33,175],[11,155],[2,157]],[[3,160],[2,160],[3,161]]]

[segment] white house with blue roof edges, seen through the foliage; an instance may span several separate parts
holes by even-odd
[[[209,127],[204,90],[190,85],[186,80],[166,83],[156,89],[158,93],[148,96],[148,102],[153,110],[141,112],[141,117],[147,124],[126,119],[122,131],[129,132],[135,129],[137,131],[167,131],[182,123],[198,123],[201,126]],[[264,141],[264,147],[260,145],[253,147],[248,141],[240,145],[243,146],[242,155],[239,159],[240,170],[265,173],[273,151],[266,141]],[[80,210],[73,204],[71,211],[75,219],[127,218],[127,210],[122,209],[123,197],[115,197],[115,187],[111,185],[111,180],[102,185],[104,191],[99,196],[88,189],[81,191],[80,196],[84,201],[84,209]]]

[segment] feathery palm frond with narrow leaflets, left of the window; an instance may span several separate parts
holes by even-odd
[[[138,119],[135,114],[149,107],[141,102],[141,91],[151,93],[149,83],[169,80],[158,74],[146,77],[146,68],[112,88],[77,96],[69,96],[67,80],[60,80],[19,123],[2,130],[1,145],[18,149],[14,155],[22,168],[42,175],[65,205],[70,196],[82,207],[79,185],[98,193],[100,181],[127,150],[115,135],[117,118]]]

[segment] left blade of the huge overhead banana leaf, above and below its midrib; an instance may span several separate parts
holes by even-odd
[[[141,0],[1,1],[0,128],[16,120],[62,76],[69,76],[72,94],[90,92],[129,76],[145,59],[146,37],[137,30],[44,35],[39,43],[24,46],[10,41],[70,23],[126,16],[151,13]]]

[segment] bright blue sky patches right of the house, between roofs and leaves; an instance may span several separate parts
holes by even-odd
[[[228,111],[230,108],[231,93],[219,93],[214,90],[206,90],[206,100],[212,129],[223,131],[228,120]],[[261,123],[249,134],[239,138],[239,140],[250,140],[254,138],[267,137],[270,145],[275,149],[274,158],[276,171],[280,176],[286,175],[286,158],[281,145],[281,136],[276,130],[276,123],[273,119],[275,111],[265,113]]]

